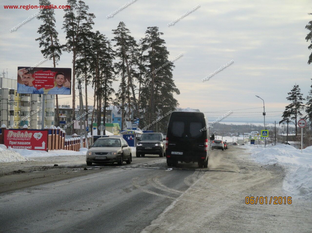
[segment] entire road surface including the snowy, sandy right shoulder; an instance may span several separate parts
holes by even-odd
[[[41,185],[0,194],[0,232],[311,232],[311,202],[245,204],[249,195],[287,195],[285,172],[253,163],[239,146],[213,151],[208,169],[183,163],[167,170],[165,161],[133,157],[123,167],[85,171],[77,161],[76,168],[64,162],[64,168],[9,172],[1,178],[50,171],[52,179],[62,169],[73,177],[56,174],[44,183],[40,175]]]

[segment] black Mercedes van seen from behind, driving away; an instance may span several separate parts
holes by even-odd
[[[175,111],[170,115],[166,135],[167,165],[178,162],[197,162],[198,167],[208,167],[210,152],[208,120],[202,112]]]

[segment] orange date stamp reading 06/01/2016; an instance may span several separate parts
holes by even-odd
[[[291,197],[268,197],[268,196],[251,196],[251,197],[245,197],[245,204],[251,204],[251,205],[256,205],[256,204],[261,204],[261,205],[281,205],[281,204],[288,204],[290,205],[292,203]]]

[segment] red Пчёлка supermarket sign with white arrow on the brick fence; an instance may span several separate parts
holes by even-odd
[[[46,130],[4,130],[4,145],[14,149],[47,151]]]

